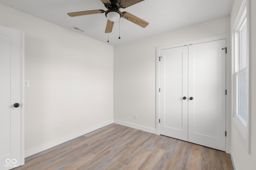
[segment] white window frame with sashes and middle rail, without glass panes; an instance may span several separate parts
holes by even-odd
[[[250,130],[250,113],[249,113],[249,20],[248,20],[248,0],[243,0],[240,10],[238,12],[238,16],[232,28],[232,91],[233,91],[233,98],[232,98],[232,117],[234,124],[236,125],[240,137],[246,147],[248,153],[250,153],[249,147],[249,130]],[[240,44],[239,42],[239,35],[238,31],[242,29],[244,22],[246,22],[246,67],[239,70],[239,55],[240,55]],[[246,72],[246,123],[240,118],[240,115],[237,114],[237,79],[238,75]]]

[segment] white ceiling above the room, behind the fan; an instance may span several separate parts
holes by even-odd
[[[234,0],[144,0],[125,9],[139,18],[148,21],[142,28],[124,18],[114,23],[109,33],[110,45],[119,45],[136,39],[157,35],[173,29],[194,25],[204,21],[229,16]],[[108,34],[104,33],[107,23],[105,14],[70,17],[69,12],[86,10],[106,10],[100,0],[0,0],[10,6],[37,18],[55,23],[67,29],[73,26],[86,30],[81,33],[104,43]],[[216,25],[218,26],[218,25]]]

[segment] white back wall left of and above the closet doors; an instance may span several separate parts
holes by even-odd
[[[229,32],[230,17],[225,17],[115,46],[114,122],[156,129],[157,46]]]

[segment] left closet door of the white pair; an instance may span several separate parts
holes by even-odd
[[[160,134],[188,141],[188,46],[160,56]]]

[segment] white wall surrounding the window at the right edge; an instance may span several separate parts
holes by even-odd
[[[250,55],[250,80],[249,80],[249,109],[250,109],[250,154],[247,153],[245,145],[242,143],[238,130],[236,129],[236,125],[232,121],[231,123],[231,154],[233,158],[233,162],[236,166],[237,170],[255,170],[255,162],[256,162],[256,1],[249,0],[249,24],[250,24],[250,37],[251,41],[249,44]],[[230,25],[231,28],[234,25],[234,21],[236,20],[236,16],[242,4],[242,0],[234,0],[232,12],[230,15]]]

